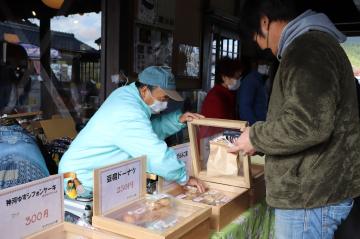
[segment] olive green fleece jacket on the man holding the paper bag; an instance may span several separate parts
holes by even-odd
[[[360,195],[359,112],[351,64],[328,33],[309,31],[285,49],[266,122],[250,141],[266,154],[266,199],[314,208]]]

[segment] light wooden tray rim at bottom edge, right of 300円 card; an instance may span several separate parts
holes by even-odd
[[[63,222],[44,231],[35,233],[27,239],[128,239],[128,237],[109,232],[90,229]]]

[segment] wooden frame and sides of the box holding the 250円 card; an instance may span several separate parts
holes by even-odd
[[[101,195],[104,194],[104,181],[102,180],[102,175],[106,175],[106,172],[112,172],[114,168],[120,166],[126,166],[126,163],[133,164],[140,162],[141,172],[139,174],[140,190],[136,193],[137,197],[127,200],[126,203],[120,203],[114,206],[109,207],[104,205],[102,201],[103,198]],[[147,239],[190,239],[190,238],[209,238],[210,233],[210,216],[211,208],[206,205],[199,205],[191,201],[172,199],[172,205],[176,208],[175,217],[178,219],[172,226],[166,227],[164,230],[155,230],[149,229],[145,226],[140,226],[132,223],[125,222],[126,215],[135,215],[130,214],[136,212],[139,209],[142,209],[142,205],[146,205],[145,202],[148,200],[149,195],[146,195],[146,159],[145,157],[139,157],[118,165],[113,165],[105,167],[102,169],[97,169],[94,172],[94,216],[92,223],[94,227],[101,228],[113,233],[124,235],[129,238],[147,238]],[[134,183],[135,185],[135,183]],[[113,195],[109,195],[111,197]],[[139,207],[140,205],[140,207]],[[143,206],[144,208],[145,206]],[[104,210],[104,208],[106,208]],[[166,208],[165,208],[166,209]],[[158,210],[158,209],[154,209]],[[170,214],[167,214],[167,211],[161,211],[159,209],[158,217],[155,218],[155,221],[162,219],[163,215],[168,217]],[[147,222],[151,223],[152,218],[149,220],[148,215],[151,215],[151,212],[148,214],[143,213],[143,217],[147,218]],[[173,214],[171,214],[173,215]],[[140,219],[139,219],[140,220]],[[165,219],[164,219],[165,220]]]

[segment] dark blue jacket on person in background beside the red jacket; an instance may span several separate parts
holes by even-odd
[[[250,71],[241,79],[236,96],[239,119],[254,124],[265,121],[267,112],[267,97],[265,81],[256,70]]]

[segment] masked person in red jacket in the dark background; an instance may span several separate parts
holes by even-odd
[[[209,91],[201,108],[207,118],[236,119],[236,90],[240,86],[243,65],[239,60],[222,58],[216,65],[215,86]],[[221,130],[221,129],[220,129]],[[216,134],[217,128],[202,127],[200,137]]]

